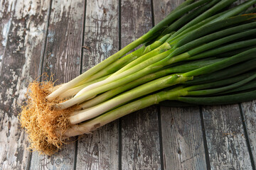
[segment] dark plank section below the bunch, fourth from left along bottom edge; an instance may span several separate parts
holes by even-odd
[[[156,107],[122,118],[122,169],[160,169]]]

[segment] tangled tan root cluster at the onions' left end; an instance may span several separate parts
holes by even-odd
[[[55,105],[62,100],[48,101],[46,96],[50,89],[53,89],[53,81],[34,81],[29,84],[27,101],[19,115],[21,127],[28,132],[30,149],[48,155],[57,152],[65,144],[63,134],[70,128],[68,116],[74,109],[57,110]]]

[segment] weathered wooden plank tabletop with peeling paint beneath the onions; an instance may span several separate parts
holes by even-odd
[[[183,0],[1,0],[0,169],[255,169],[256,103],[137,111],[52,157],[29,152],[17,115],[43,72],[73,79]],[[239,3],[239,2],[238,2]]]

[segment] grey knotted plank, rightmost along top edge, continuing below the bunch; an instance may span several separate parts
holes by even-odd
[[[159,23],[183,0],[154,0],[154,21]],[[206,169],[199,108],[161,107],[164,169]]]

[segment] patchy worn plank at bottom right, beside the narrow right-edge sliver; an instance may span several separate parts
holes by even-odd
[[[211,169],[252,169],[238,105],[202,111]]]

